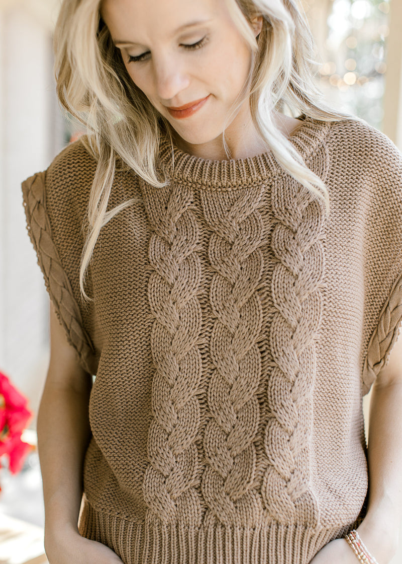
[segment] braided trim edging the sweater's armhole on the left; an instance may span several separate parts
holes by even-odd
[[[51,221],[47,210],[47,176],[48,171],[40,172],[22,183],[26,227],[37,254],[46,289],[55,306],[57,318],[65,330],[68,342],[77,351],[82,368],[86,372],[95,374],[95,350],[84,328],[81,309],[63,266],[57,241],[53,236],[52,221],[54,223],[57,218],[53,217]],[[81,253],[77,253],[76,250],[72,252],[75,252],[77,262]],[[78,279],[74,280],[74,283],[77,286]]]

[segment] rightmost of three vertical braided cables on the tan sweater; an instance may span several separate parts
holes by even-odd
[[[265,452],[269,467],[262,498],[276,521],[302,519],[306,525],[316,526],[318,505],[308,491],[309,445],[316,370],[314,338],[322,312],[319,284],[324,275],[320,240],[324,208],[294,179],[278,177],[272,190],[276,223],[271,246],[278,262],[271,283],[276,312],[270,343],[276,366],[267,385],[270,418]]]

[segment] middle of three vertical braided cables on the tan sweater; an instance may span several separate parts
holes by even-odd
[[[256,390],[261,377],[257,346],[262,308],[256,288],[263,258],[262,219],[256,209],[264,186],[243,191],[233,204],[219,205],[202,192],[204,215],[212,230],[208,257],[215,270],[209,299],[213,324],[210,354],[215,370],[208,386],[212,418],[204,433],[208,465],[202,491],[220,522],[255,527],[262,512],[252,489],[256,473],[253,440],[260,421]]]

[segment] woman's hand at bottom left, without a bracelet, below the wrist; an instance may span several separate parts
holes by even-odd
[[[78,531],[45,536],[49,564],[123,564],[113,550],[82,537]]]

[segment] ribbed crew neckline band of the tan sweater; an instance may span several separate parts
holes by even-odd
[[[315,152],[328,134],[332,122],[304,118],[291,135],[290,141],[305,162]],[[205,188],[236,188],[245,184],[267,180],[283,171],[273,155],[266,151],[261,155],[230,160],[210,160],[189,155],[173,145],[174,169],[172,167],[172,146],[164,136],[160,142],[159,165],[169,178],[194,182]]]

